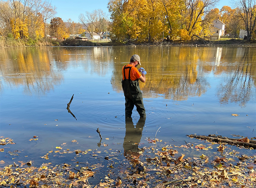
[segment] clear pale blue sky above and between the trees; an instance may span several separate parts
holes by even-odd
[[[57,14],[55,17],[62,18],[63,21],[67,21],[71,18],[75,22],[79,22],[78,16],[86,11],[92,12],[95,9],[102,9],[103,12],[109,14],[107,3],[109,0],[52,0],[52,5],[57,7]],[[217,8],[221,9],[222,6],[228,5],[230,7],[230,1],[220,0],[216,5]]]

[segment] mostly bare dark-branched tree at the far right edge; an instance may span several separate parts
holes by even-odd
[[[247,31],[247,40],[252,39],[252,33],[256,28],[256,1],[255,0],[237,0],[235,2],[238,10],[238,15],[244,23]]]

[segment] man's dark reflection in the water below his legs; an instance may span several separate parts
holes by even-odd
[[[140,118],[134,127],[132,118],[125,118],[125,137],[123,141],[124,156],[138,159],[141,149],[138,148],[146,118]]]

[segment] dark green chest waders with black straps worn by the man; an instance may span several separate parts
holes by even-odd
[[[125,77],[125,69],[129,68],[128,79]],[[131,68],[123,68],[124,80],[122,80],[122,88],[125,97],[125,117],[131,117],[134,105],[137,107],[137,111],[141,118],[146,117],[146,112],[143,104],[142,93],[139,86],[139,79],[131,80]]]

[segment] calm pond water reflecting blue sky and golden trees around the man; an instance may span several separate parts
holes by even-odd
[[[124,118],[121,68],[133,54],[140,55],[147,71],[146,83],[140,83],[147,113],[142,123],[135,109],[133,122]],[[256,48],[1,48],[0,136],[16,144],[1,146],[6,148],[0,160],[40,165],[46,161],[40,156],[62,143],[73,151],[122,153],[123,147],[136,149],[134,143],[149,145],[146,138],[155,138],[159,127],[157,138],[172,145],[197,142],[186,137],[194,133],[255,137],[255,93]],[[38,140],[29,141],[34,135]],[[21,152],[6,153],[14,150]],[[74,156],[57,153],[46,162],[71,163]]]

